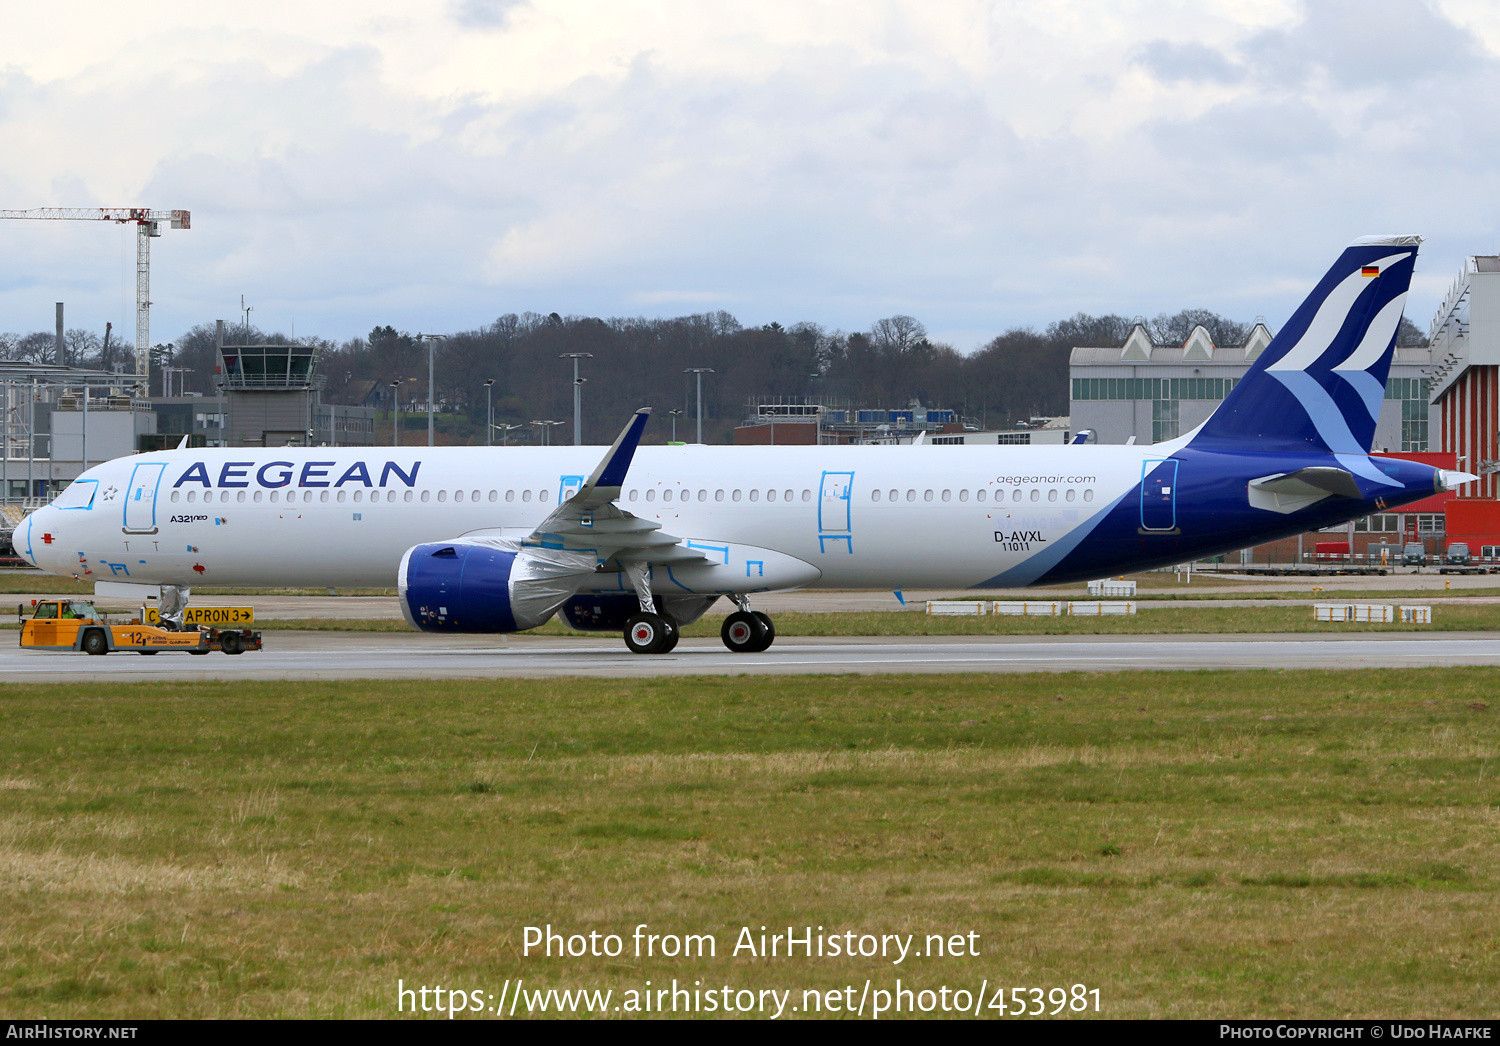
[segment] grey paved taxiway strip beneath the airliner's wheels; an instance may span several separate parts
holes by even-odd
[[[1486,632],[1178,636],[782,638],[764,654],[732,654],[717,639],[684,639],[662,656],[634,656],[615,636],[429,636],[270,632],[267,650],[237,657],[0,650],[8,683],[638,678],[660,675],[812,675],[891,672],[1107,672],[1122,669],[1419,668],[1500,665]]]

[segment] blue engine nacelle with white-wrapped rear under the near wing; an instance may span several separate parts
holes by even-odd
[[[396,587],[414,629],[522,632],[544,624],[592,573],[588,552],[480,537],[406,549]]]

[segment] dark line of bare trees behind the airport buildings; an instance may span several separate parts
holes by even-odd
[[[819,401],[848,407],[950,408],[986,428],[1008,428],[1035,416],[1068,413],[1068,353],[1076,345],[1120,347],[1136,320],[1077,314],[1042,329],[1012,327],[970,354],[933,341],[914,317],[878,320],[868,330],[846,333],[816,323],[746,327],[728,312],[676,318],[562,317],[556,312],[506,314],[486,327],[453,332],[434,342],[434,398],[446,411],[466,414],[465,431],[483,441],[484,381],[496,423],[520,425],[530,438],[534,420],[572,420],[573,371],[568,353],[582,360],[584,438],[608,443],[638,407],[654,405],[654,441],[666,438],[666,413],[696,416],[696,383],[704,375],[704,438],[728,443],[752,401]],[[1143,321],[1152,341],[1180,345],[1203,324],[1215,345],[1240,345],[1251,324],[1206,309],[1184,309]],[[284,344],[279,332],[231,324],[228,344]],[[1425,344],[1402,318],[1400,342]],[[410,332],[376,326],[364,338],[330,341],[298,338],[318,348],[324,402],[352,402],[388,410],[424,405],[428,345]],[[0,356],[96,369],[134,369],[134,345],[93,332],[68,330],[57,359],[52,332],[0,335]],[[192,327],[171,344],[156,345],[152,393],[160,393],[164,365],[189,368],[182,384],[206,396],[216,393],[214,324]],[[393,393],[390,383],[402,380]],[[176,387],[176,383],[174,383]],[[680,425],[680,435],[692,428]],[[514,438],[514,437],[513,437]]]

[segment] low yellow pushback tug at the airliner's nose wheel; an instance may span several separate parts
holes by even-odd
[[[184,650],[207,654],[222,650],[242,654],[261,648],[261,633],[250,629],[214,629],[189,624],[183,632],[148,623],[147,612],[120,620],[100,614],[87,599],[33,599],[32,617],[26,606],[16,606],[21,618],[21,647],[34,650],[81,650],[86,654],[106,654],[111,650],[134,650],[154,654],[162,650]],[[152,615],[154,617],[154,615]]]

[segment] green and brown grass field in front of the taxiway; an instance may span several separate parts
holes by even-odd
[[[1098,987],[1496,1016],[1492,669],[0,687],[0,1008]],[[714,959],[524,957],[524,927]],[[980,957],[730,957],[741,926]],[[524,1011],[524,1010],[522,1010]],[[518,1014],[519,1016],[519,1014]]]

